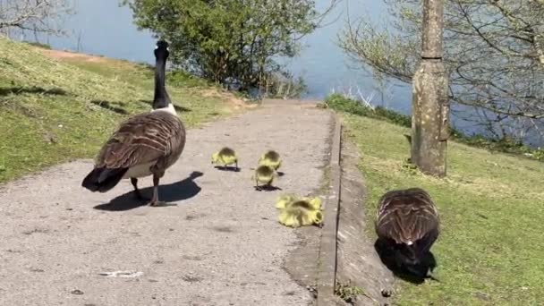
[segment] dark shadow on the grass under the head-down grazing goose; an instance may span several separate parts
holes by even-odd
[[[377,239],[374,243],[374,249],[378,252],[381,262],[391,270],[396,277],[416,285],[422,284],[425,282],[425,279],[428,278],[438,281],[438,279],[429,276],[429,272],[432,272],[437,268],[437,260],[432,252],[429,251],[427,253],[420,265],[414,266],[399,265],[398,261],[395,259],[395,248],[390,242]]]

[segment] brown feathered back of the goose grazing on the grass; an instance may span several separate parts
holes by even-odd
[[[417,242],[438,230],[438,211],[419,188],[389,191],[380,199],[376,232],[397,243]]]

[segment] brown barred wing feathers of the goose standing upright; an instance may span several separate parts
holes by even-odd
[[[98,153],[97,166],[124,168],[156,161],[170,155],[180,141],[183,147],[184,138],[183,123],[174,115],[166,112],[135,115],[106,141]]]

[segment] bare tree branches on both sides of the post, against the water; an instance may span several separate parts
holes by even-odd
[[[378,80],[410,83],[420,60],[421,0],[383,1],[393,21],[387,27],[348,21],[339,45]],[[535,130],[544,126],[544,0],[444,4],[451,102],[505,117],[500,123],[525,120],[540,125]],[[526,128],[525,123],[517,125]]]

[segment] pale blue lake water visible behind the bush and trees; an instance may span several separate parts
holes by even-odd
[[[64,21],[69,37],[40,38],[57,49],[69,49],[94,55],[127,59],[135,62],[154,63],[155,38],[146,30],[138,30],[132,23],[132,12],[119,6],[115,0],[73,0],[76,13]],[[319,10],[325,9],[330,0],[316,0]],[[325,98],[329,93],[352,93],[366,98],[374,105],[387,106],[409,115],[412,92],[410,86],[378,88],[369,72],[358,69],[343,51],[337,47],[337,34],[344,28],[346,19],[364,17],[382,22],[388,15],[381,0],[342,0],[327,15],[325,27],[319,28],[302,39],[299,56],[285,60],[288,69],[300,75],[308,85],[304,98]],[[33,37],[24,39],[32,40]],[[462,107],[457,111],[472,113]],[[452,122],[464,132],[483,132],[477,123],[452,116]]]

